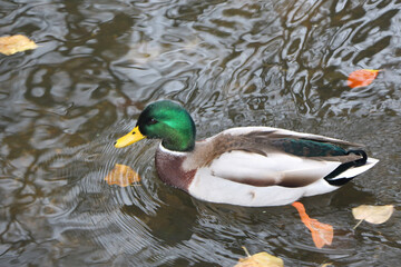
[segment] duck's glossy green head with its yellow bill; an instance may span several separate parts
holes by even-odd
[[[195,146],[195,123],[179,105],[163,100],[150,103],[139,115],[136,127],[115,142],[116,148],[129,146],[144,138],[162,139],[173,151],[190,151]]]

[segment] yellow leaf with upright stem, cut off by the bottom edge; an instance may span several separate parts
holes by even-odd
[[[258,253],[250,255],[247,249],[243,247],[247,257],[241,258],[234,267],[283,267],[284,261],[281,258],[270,255],[268,253]]]

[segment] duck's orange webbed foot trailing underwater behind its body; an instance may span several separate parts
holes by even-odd
[[[305,207],[299,201],[293,202],[292,206],[296,208],[302,222],[304,222],[304,225],[312,233],[313,243],[317,248],[322,248],[324,245],[332,244],[334,233],[331,225],[322,224],[316,219],[310,218],[305,211]]]

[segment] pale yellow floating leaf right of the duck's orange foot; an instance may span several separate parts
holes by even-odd
[[[383,224],[390,219],[391,215],[394,211],[393,205],[384,206],[371,206],[371,205],[361,205],[352,209],[352,215],[355,219],[360,221],[355,225],[354,229],[363,221],[371,224]]]

